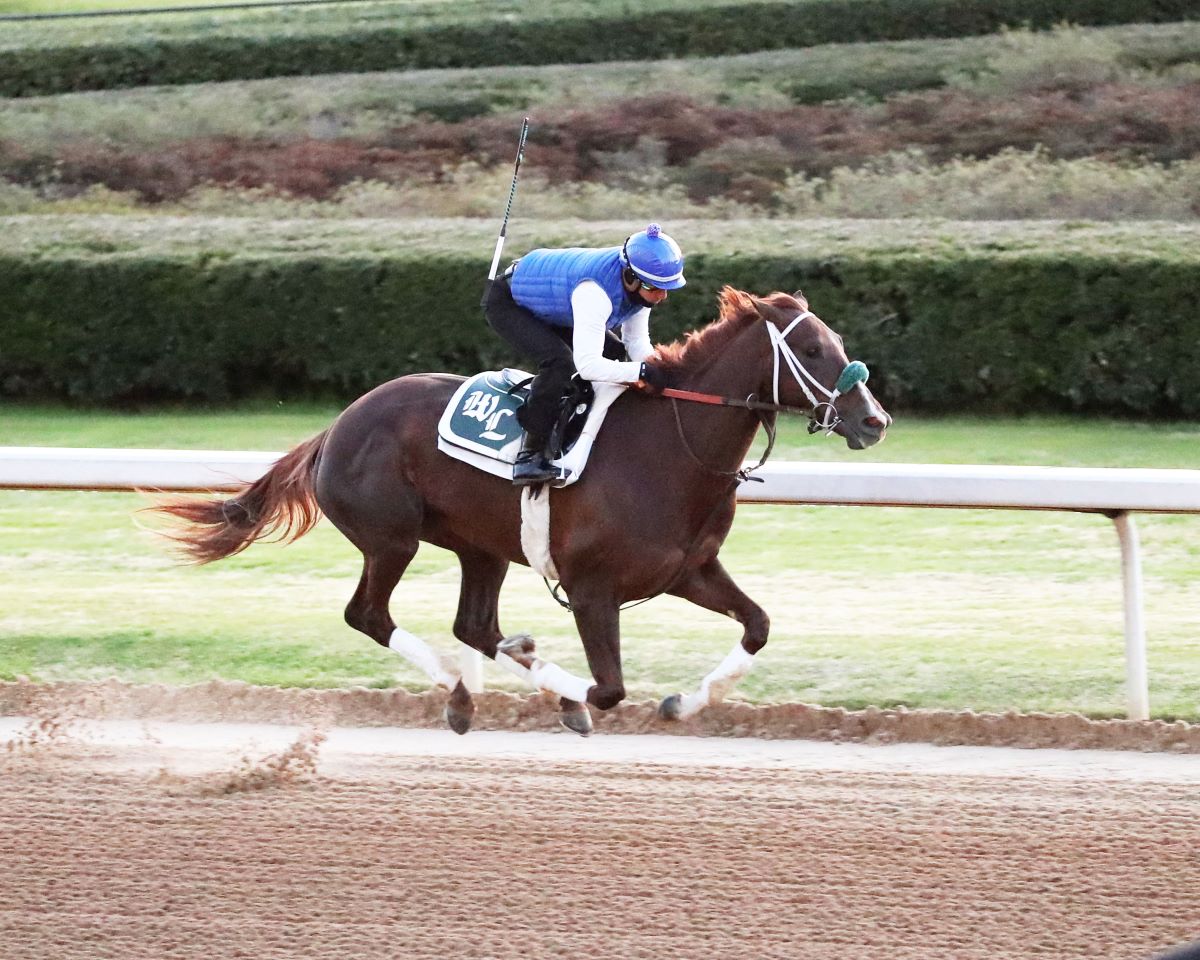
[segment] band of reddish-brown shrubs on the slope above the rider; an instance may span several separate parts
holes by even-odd
[[[202,184],[265,187],[326,199],[355,180],[439,181],[466,162],[512,161],[511,118],[419,121],[371,142],[209,138],[130,152],[74,142],[55,156],[0,143],[0,176],[60,191],[103,185],[150,202],[175,200]],[[653,157],[644,145],[655,144]],[[980,96],[944,89],[883,104],[826,103],[751,110],[655,96],[600,109],[547,110],[527,161],[551,184],[624,182],[631,164],[653,163],[696,198],[762,198],[788,172],[826,175],[871,157],[920,148],[929,160],[990,157],[1006,148],[1044,148],[1050,157],[1144,157],[1160,163],[1200,155],[1200,83],[1106,84]]]

